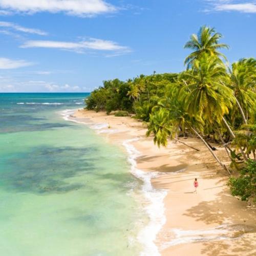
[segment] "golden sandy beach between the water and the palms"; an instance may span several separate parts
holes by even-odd
[[[139,153],[137,168],[152,173],[154,189],[165,192],[163,222],[154,238],[161,255],[256,255],[256,209],[229,194],[227,173],[199,139],[181,138],[199,151],[175,141],[158,148],[145,137],[145,125],[133,118],[84,110],[73,117],[94,125],[124,151],[130,140]],[[224,149],[215,146],[228,164]]]

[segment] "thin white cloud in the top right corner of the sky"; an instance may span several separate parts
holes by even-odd
[[[243,13],[256,13],[256,1],[234,0],[206,0],[210,3],[210,9],[206,11],[238,11]]]

